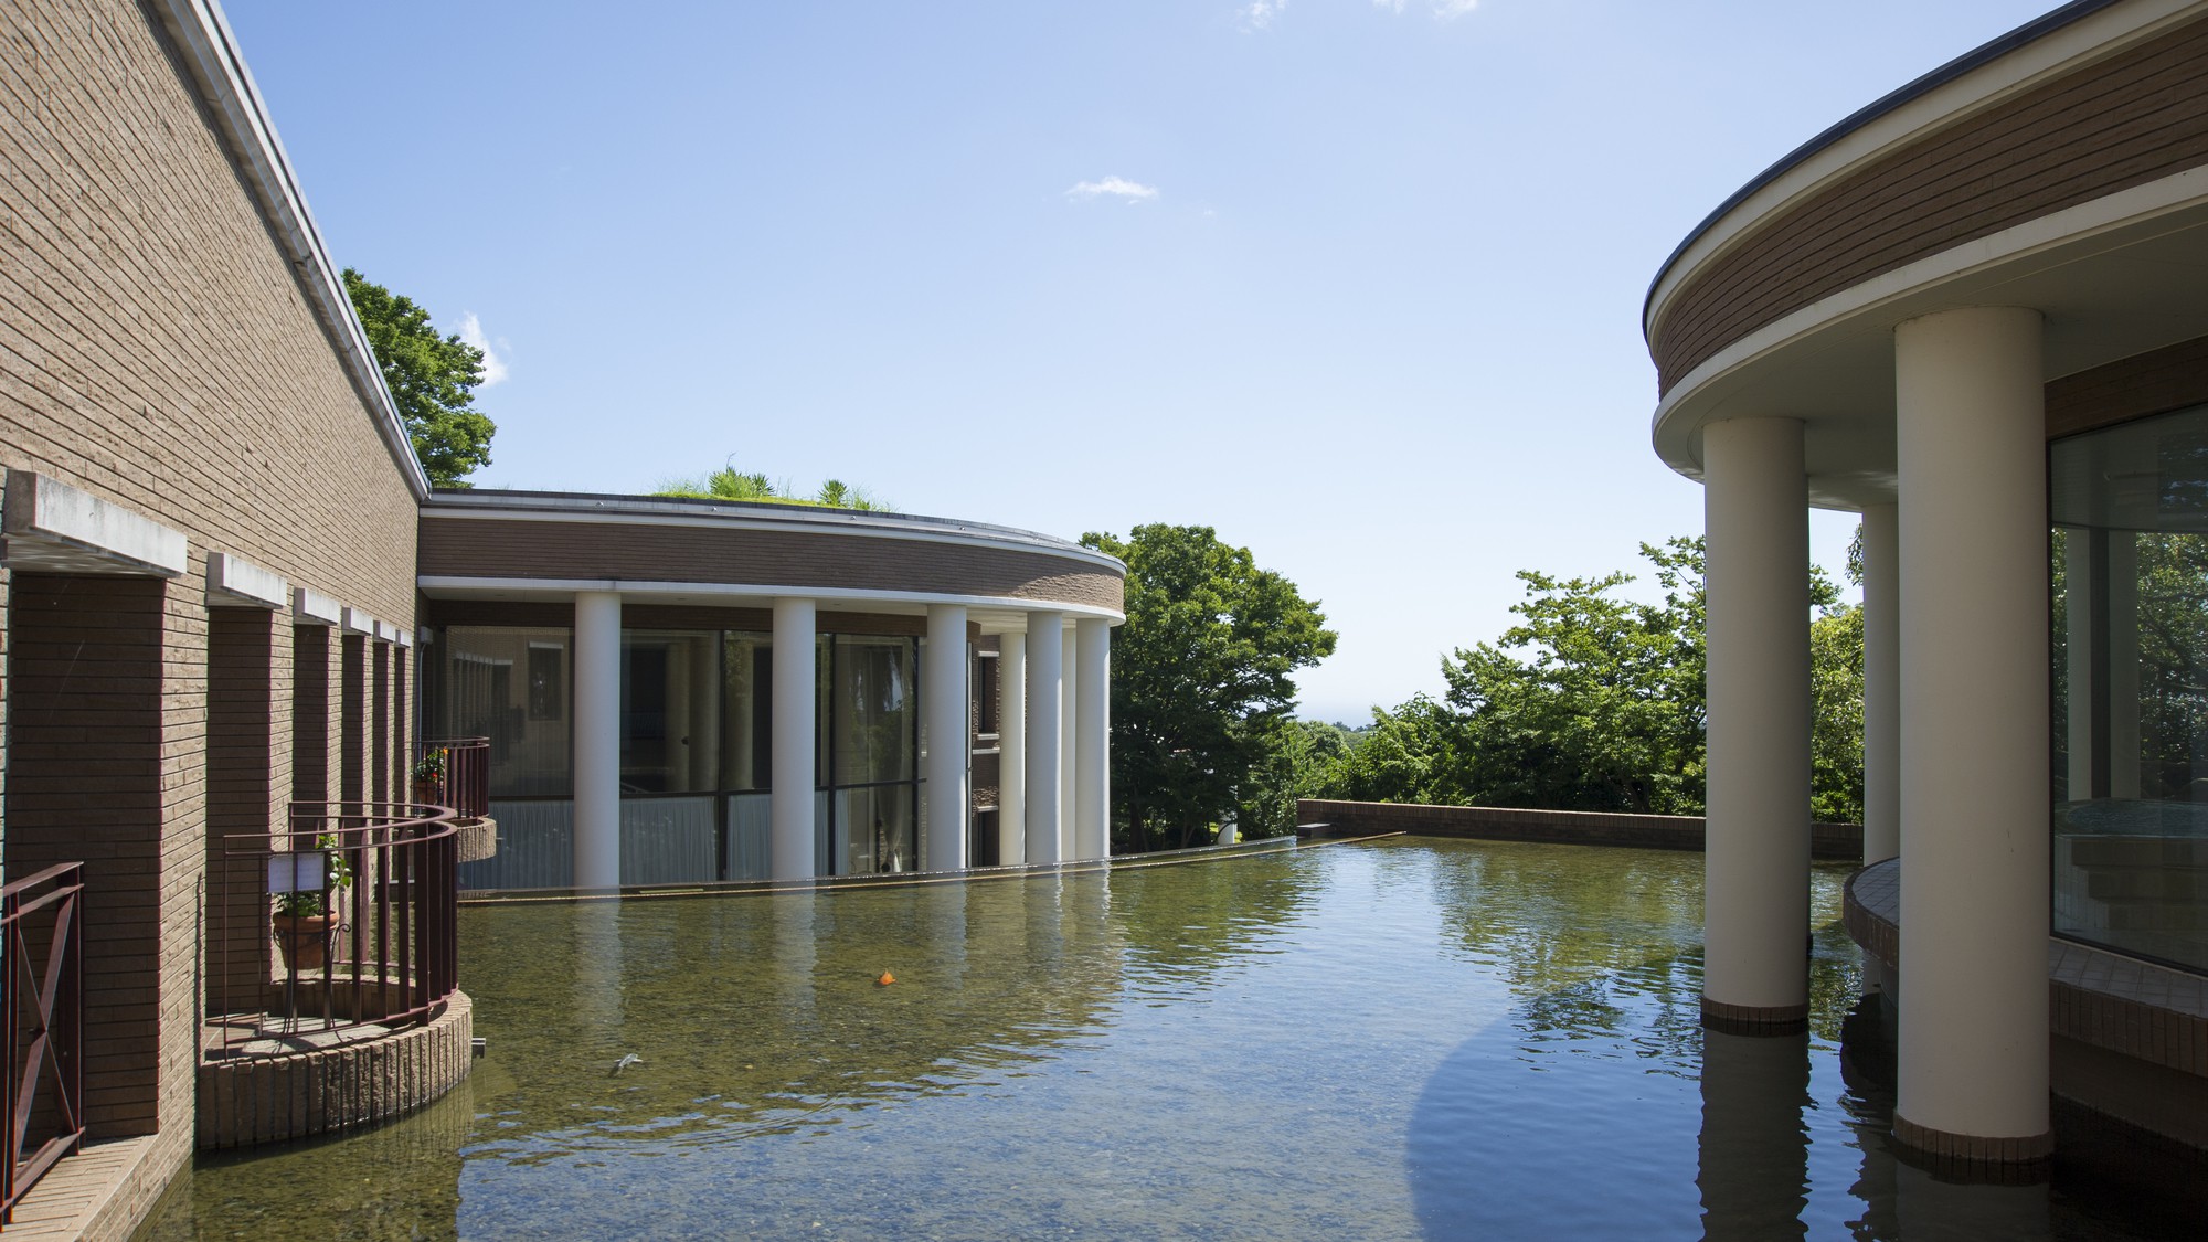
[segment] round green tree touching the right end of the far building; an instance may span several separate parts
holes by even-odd
[[[1236,811],[1252,769],[1289,745],[1292,674],[1334,652],[1318,601],[1256,568],[1210,526],[1082,535],[1126,561],[1126,625],[1113,630],[1111,767],[1117,849],[1203,844]],[[1272,798],[1278,802],[1278,798]],[[1259,815],[1272,827],[1276,811]]]

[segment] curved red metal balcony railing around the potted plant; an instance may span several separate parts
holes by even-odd
[[[453,811],[420,802],[294,802],[289,831],[223,838],[216,935],[274,961],[216,981],[219,1054],[435,1017],[459,977],[455,844]]]

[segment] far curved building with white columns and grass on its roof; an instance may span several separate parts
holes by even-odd
[[[572,493],[437,493],[420,533],[424,727],[490,738],[501,849],[475,888],[1108,853],[1113,557]]]

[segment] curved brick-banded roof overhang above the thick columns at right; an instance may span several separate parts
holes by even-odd
[[[1819,203],[1844,201],[1850,181],[1859,186],[1912,157],[1952,181],[1952,168],[1928,164],[1941,137],[1952,144],[1956,133],[1972,133],[1963,126],[1998,130],[2005,115],[2027,106],[2047,117],[2051,93],[2093,73],[2122,73],[2126,55],[2146,57],[2199,31],[2208,31],[2201,0],[2067,4],[1879,99],[1742,188],[1680,243],[1649,290],[1643,327],[1660,369],[1669,354],[1652,427],[1656,453],[1700,477],[1705,424],[1800,418],[1811,502],[1861,508],[1892,499],[1897,323],[1967,305],[2036,307],[2047,316],[2047,378],[2208,336],[2208,164],[2111,181],[2104,194],[2071,194],[2040,214],[2011,212],[2023,219],[1917,252],[1908,252],[1912,203],[1859,206],[1837,228],[1888,248],[1899,239],[1908,259],[1848,283],[1806,287],[1762,320],[1738,316],[1738,307],[1711,309],[1716,298],[1696,290],[1698,278],[1716,278],[1729,263],[1744,267],[1755,248],[1784,259],[1782,248],[1802,254],[1824,245],[1830,234],[1804,221],[1815,223]],[[2179,73],[2193,64],[2197,55],[2179,57]],[[2058,159],[2073,155],[2071,146],[2049,150]],[[2076,144],[2078,155],[2091,150]],[[1983,186],[1965,192],[1987,194]],[[1835,219],[1828,214],[1822,228],[1833,230]],[[1769,256],[1762,263],[1782,267]],[[1733,323],[1713,329],[1727,314]],[[1680,349],[1678,340],[1696,331],[1705,345]]]

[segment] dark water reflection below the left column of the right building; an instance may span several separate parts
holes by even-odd
[[[1808,1034],[1702,1032],[1702,1238],[1800,1238],[1808,1207]]]

